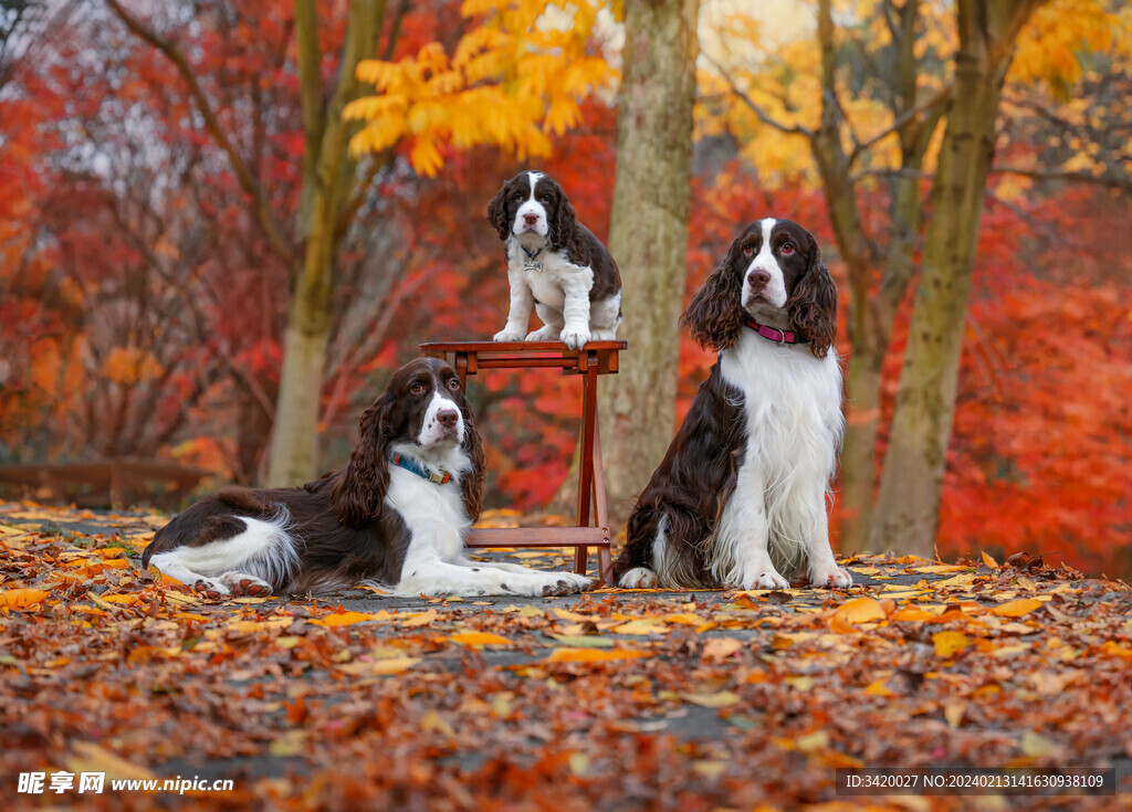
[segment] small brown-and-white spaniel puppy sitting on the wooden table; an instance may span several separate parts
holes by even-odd
[[[612,340],[621,276],[606,247],[577,222],[566,192],[542,172],[520,172],[488,206],[507,247],[511,312],[497,342],[552,342],[571,349]],[[526,331],[531,304],[542,327]]]

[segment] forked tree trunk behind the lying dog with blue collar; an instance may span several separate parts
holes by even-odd
[[[386,0],[350,0],[346,40],[337,85],[325,112],[319,80],[315,0],[297,0],[300,94],[307,145],[303,155],[300,231],[307,239],[302,268],[295,279],[283,340],[275,427],[272,433],[272,487],[308,482],[318,473],[318,412],[331,326],[331,291],[337,254],[338,209],[349,189],[353,162],[346,146],[350,126],[342,109],[358,96],[354,68],[377,50]]]

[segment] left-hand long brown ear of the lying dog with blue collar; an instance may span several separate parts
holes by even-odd
[[[348,527],[367,527],[381,513],[385,491],[389,486],[386,460],[389,438],[385,424],[393,403],[393,392],[387,391],[361,413],[358,444],[350,455],[346,469],[331,491],[334,513]]]

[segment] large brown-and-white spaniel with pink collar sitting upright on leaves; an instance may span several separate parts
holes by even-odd
[[[830,550],[826,487],[844,427],[837,290],[797,223],[752,223],[683,321],[719,361],[628,521],[621,587],[848,587]]]

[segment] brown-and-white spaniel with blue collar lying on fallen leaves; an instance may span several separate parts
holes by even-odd
[[[437,359],[397,370],[362,413],[345,470],[302,487],[228,487],[157,530],[142,555],[209,598],[334,591],[559,595],[589,579],[473,562],[464,538],[484,492],[482,444],[460,379]]]

